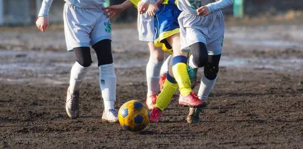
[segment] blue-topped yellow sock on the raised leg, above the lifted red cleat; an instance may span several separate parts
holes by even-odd
[[[192,92],[191,83],[187,72],[187,58],[185,56],[173,57],[173,73],[179,85],[180,94],[186,96]]]

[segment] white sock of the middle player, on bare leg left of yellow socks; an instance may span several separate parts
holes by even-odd
[[[160,81],[160,69],[163,65],[163,61],[156,61],[149,58],[146,65],[146,80],[147,80],[147,97],[158,94],[159,81]]]

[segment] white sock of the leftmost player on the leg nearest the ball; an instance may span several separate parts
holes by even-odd
[[[99,66],[99,84],[104,101],[104,110],[115,109],[116,75],[114,63]]]

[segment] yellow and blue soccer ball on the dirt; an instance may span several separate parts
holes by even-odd
[[[147,107],[136,100],[124,103],[119,109],[119,122],[129,131],[143,130],[149,123],[149,111]]]

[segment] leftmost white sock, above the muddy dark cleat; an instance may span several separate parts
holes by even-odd
[[[74,91],[80,90],[82,86],[82,82],[86,77],[86,73],[89,70],[89,67],[83,67],[81,66],[77,61],[72,67],[71,70],[71,78],[70,78],[70,86],[69,86],[69,92],[71,94],[74,93]]]

